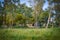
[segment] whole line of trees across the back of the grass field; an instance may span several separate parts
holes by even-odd
[[[48,1],[49,7],[42,7]],[[20,0],[0,1],[0,27],[60,27],[60,1],[59,0],[28,0],[28,7]],[[28,24],[28,25],[27,25]]]

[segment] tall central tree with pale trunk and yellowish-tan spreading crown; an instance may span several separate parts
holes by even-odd
[[[32,2],[32,7],[34,9],[34,17],[35,17],[35,27],[38,26],[38,16],[42,12],[42,6],[44,3],[44,0],[30,0]]]

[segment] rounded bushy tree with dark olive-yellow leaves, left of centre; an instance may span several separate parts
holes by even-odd
[[[24,16],[23,14],[17,14],[15,18],[15,22],[17,25],[21,24],[22,26],[26,26],[26,20],[28,20],[28,17]]]

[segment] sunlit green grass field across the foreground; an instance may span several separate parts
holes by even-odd
[[[0,40],[60,40],[60,28],[0,29]]]

